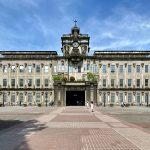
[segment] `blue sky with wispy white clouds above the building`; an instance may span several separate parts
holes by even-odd
[[[0,50],[56,50],[74,20],[94,50],[149,50],[149,0],[0,0]]]

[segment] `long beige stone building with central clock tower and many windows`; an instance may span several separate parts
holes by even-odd
[[[61,43],[63,56],[56,51],[0,52],[1,105],[149,104],[150,51],[88,55],[90,37],[76,23]]]

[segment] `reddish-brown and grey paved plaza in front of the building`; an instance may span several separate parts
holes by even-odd
[[[0,108],[0,150],[149,150],[149,116],[146,107]]]

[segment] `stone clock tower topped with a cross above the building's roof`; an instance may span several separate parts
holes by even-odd
[[[77,21],[74,21],[74,27],[71,29],[70,34],[63,34],[61,37],[62,40],[62,53],[64,56],[73,58],[72,61],[76,57],[87,56],[90,50],[89,48],[89,40],[90,37],[88,34],[81,34],[80,28],[77,27]],[[74,63],[74,62],[73,62]]]

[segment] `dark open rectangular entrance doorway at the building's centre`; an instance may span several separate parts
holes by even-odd
[[[85,91],[66,91],[66,106],[85,106]]]

